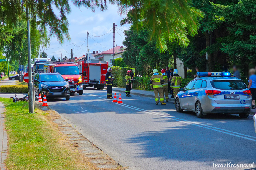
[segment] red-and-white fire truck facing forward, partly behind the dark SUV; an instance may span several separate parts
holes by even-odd
[[[71,93],[82,95],[84,92],[82,76],[78,69],[78,64],[69,61],[47,61],[44,64],[44,72],[58,72],[66,80],[69,79]]]

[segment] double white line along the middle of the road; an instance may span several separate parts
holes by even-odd
[[[118,103],[115,103],[115,104],[118,104]],[[140,109],[140,108],[137,108],[137,107],[134,107],[134,106],[126,105],[126,104],[120,104],[120,106],[124,106],[124,107],[130,108],[130,109],[134,109],[134,110],[137,110],[137,111],[144,112],[144,113],[152,114],[152,115],[155,115],[155,116],[160,116],[160,117],[167,118],[167,119],[172,119],[172,120],[175,120],[175,121],[178,121],[178,122],[184,122],[184,123],[191,124],[191,125],[194,125],[194,126],[202,127],[202,128],[205,128],[205,129],[225,133],[225,134],[228,134],[228,135],[232,135],[232,136],[236,136],[236,137],[240,137],[240,138],[243,138],[243,139],[252,140],[252,141],[256,142],[256,140],[255,140],[256,137],[254,137],[254,136],[245,135],[245,134],[242,134],[242,133],[233,132],[233,131],[230,131],[230,130],[221,129],[221,128],[217,128],[217,127],[212,127],[212,126],[208,126],[208,125],[201,124],[201,123],[198,123],[198,122],[188,121],[188,120],[185,120],[185,119],[179,119],[179,118],[171,116],[171,115],[160,114],[160,113],[157,113],[157,112],[152,112],[152,111]],[[247,136],[247,137],[244,137],[244,136]],[[251,139],[249,137],[255,138],[255,139]]]

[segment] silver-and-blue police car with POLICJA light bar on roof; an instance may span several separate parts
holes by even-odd
[[[222,72],[198,72],[197,76],[184,88],[179,88],[175,98],[177,112],[193,111],[199,118],[210,113],[249,116],[252,94],[242,80]]]

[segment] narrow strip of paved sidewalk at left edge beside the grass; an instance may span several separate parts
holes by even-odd
[[[0,151],[1,151],[1,156],[0,156],[0,170],[5,169],[5,159],[7,157],[7,134],[6,131],[4,130],[4,118],[5,115],[3,112],[5,111],[3,103],[0,102]]]

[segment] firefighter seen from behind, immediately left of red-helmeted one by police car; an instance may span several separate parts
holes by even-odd
[[[154,69],[153,73],[154,74],[150,78],[150,87],[152,90],[154,90],[154,93],[155,93],[155,104],[158,105],[159,103],[159,98],[158,98],[158,94],[159,94],[160,103],[162,105],[166,105],[166,103],[164,103],[164,97],[163,97],[163,85],[162,85],[162,83],[164,83],[163,77],[159,75],[157,69]]]

